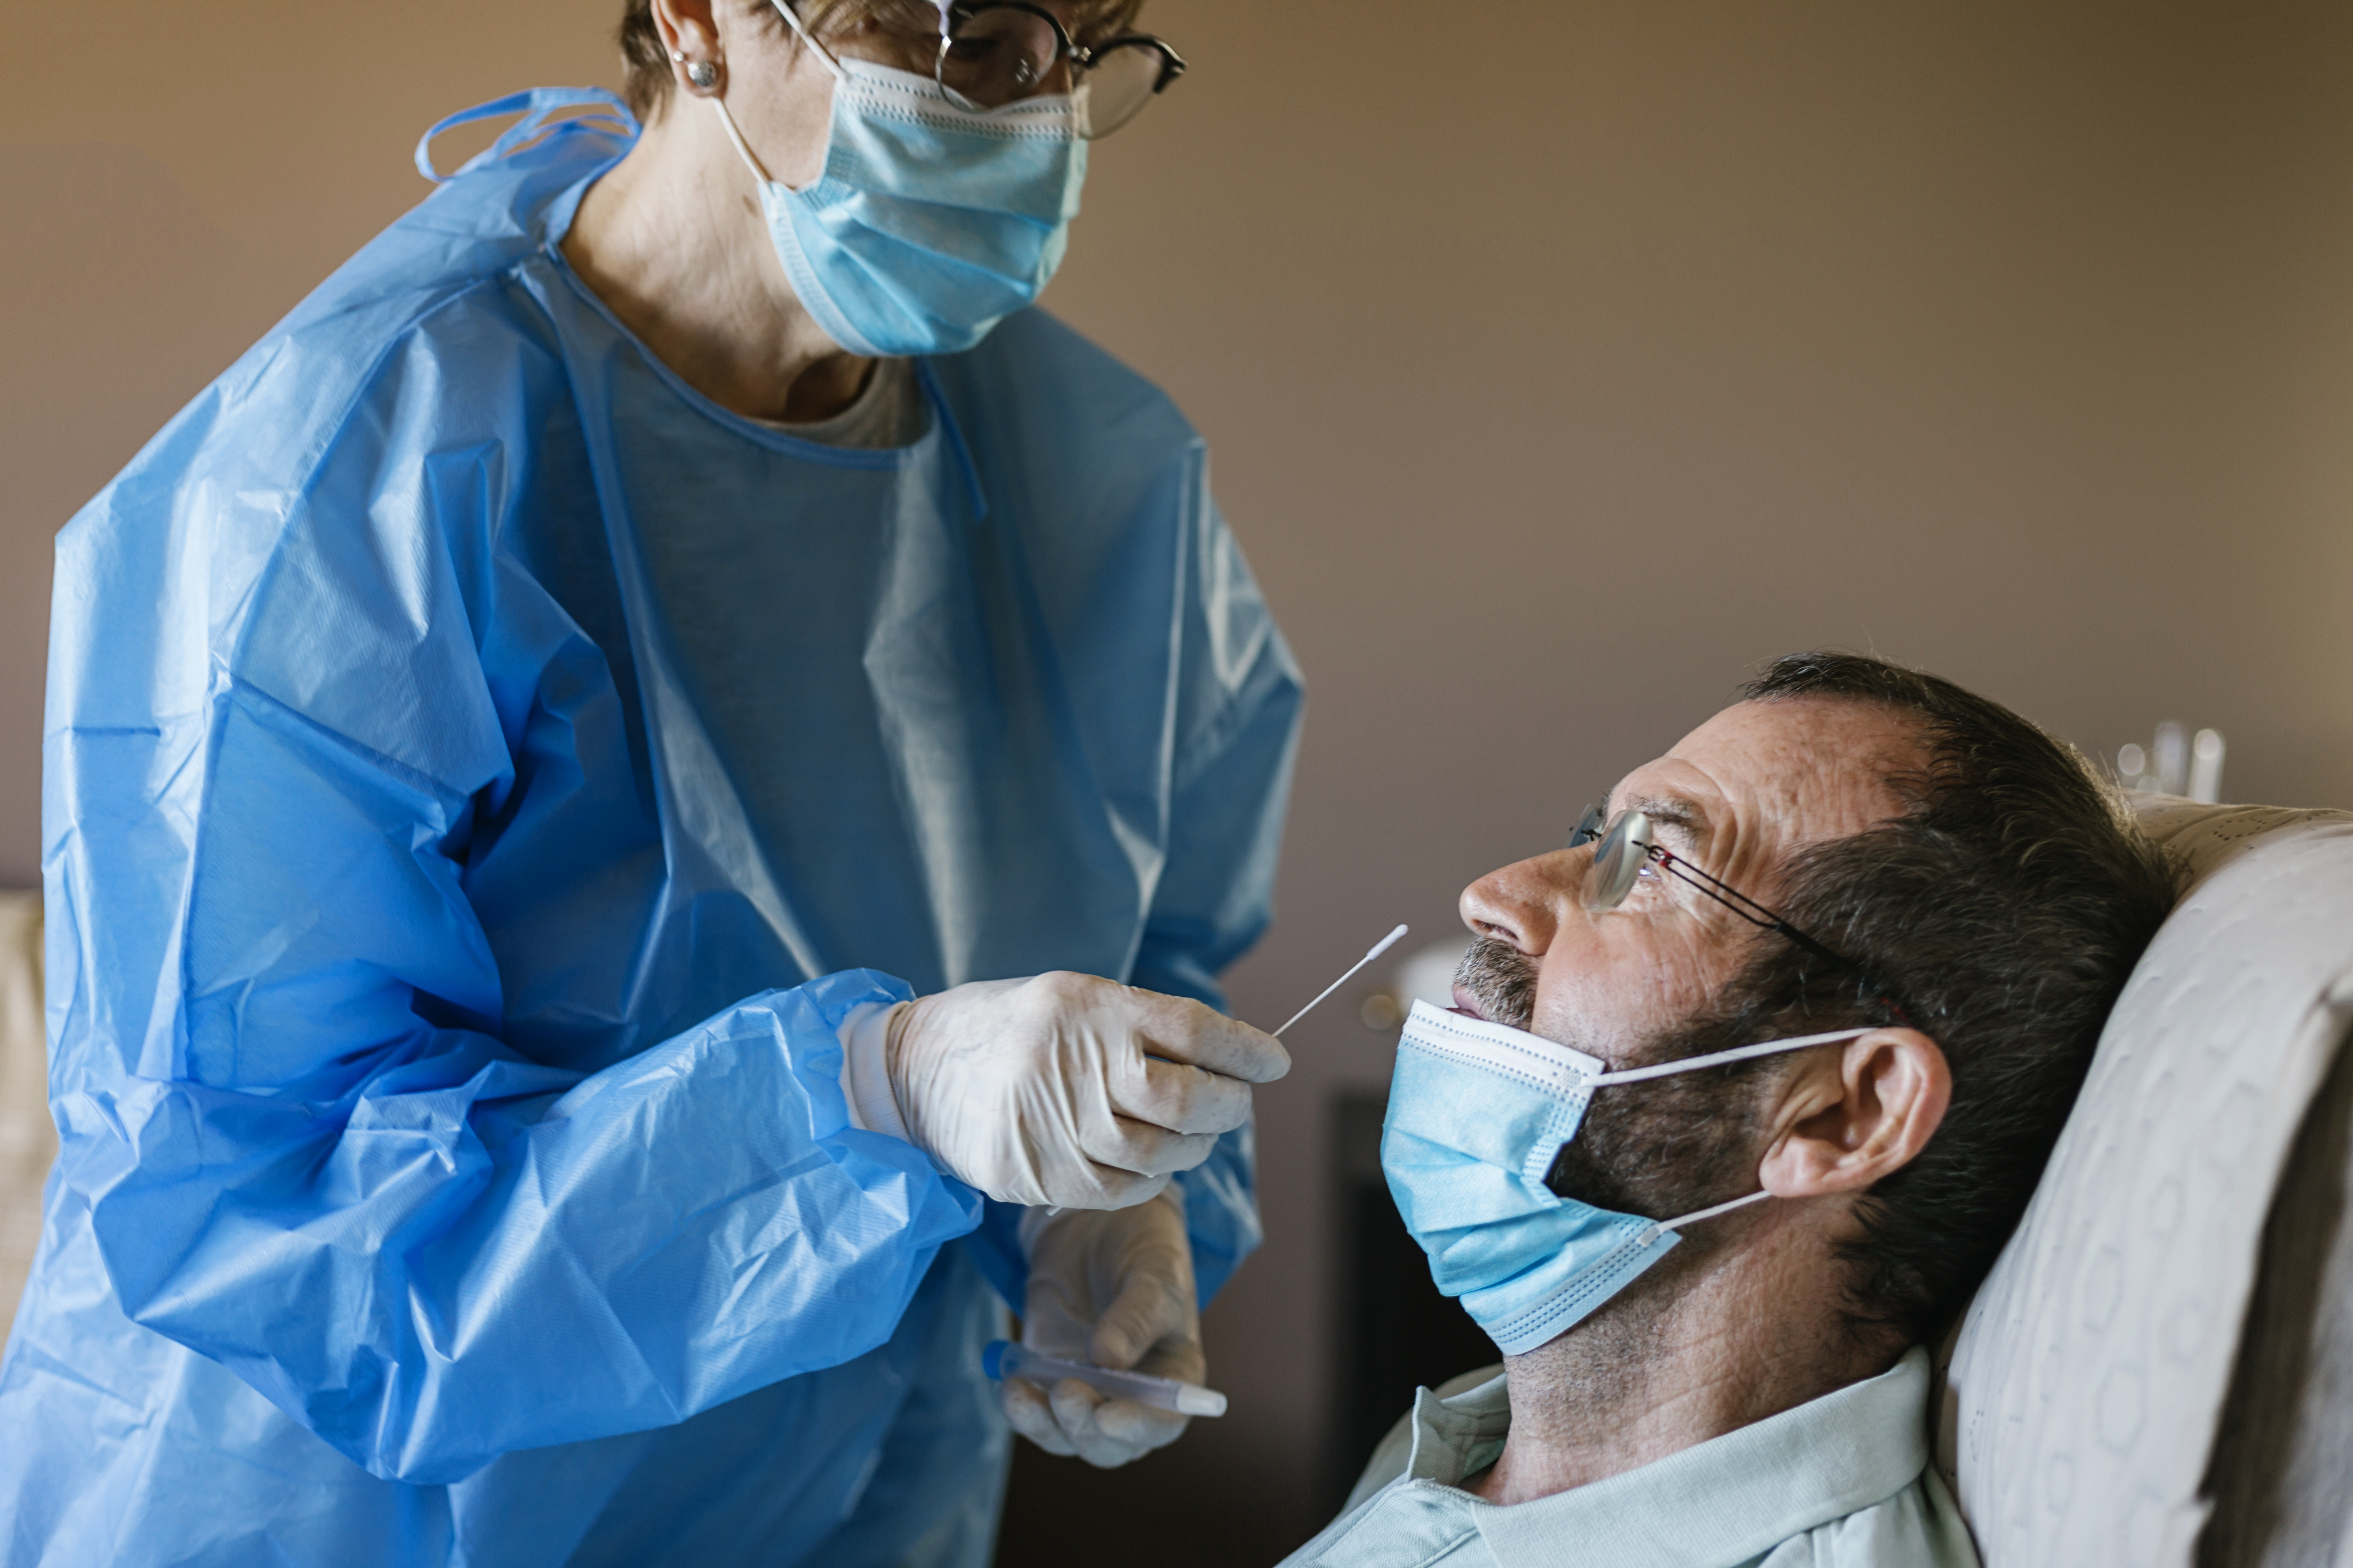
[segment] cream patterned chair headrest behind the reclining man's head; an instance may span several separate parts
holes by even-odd
[[[1986,1568],[2186,1568],[2264,1220],[2353,1020],[2353,813],[2151,797],[2193,884],[1951,1349]]]

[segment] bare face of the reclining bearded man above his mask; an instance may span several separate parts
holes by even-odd
[[[1795,851],[1899,816],[1904,802],[1882,780],[1922,766],[1913,722],[1889,710],[1739,703],[1628,773],[1607,811],[1647,811],[1661,846],[1774,905]],[[1722,992],[1755,940],[1781,938],[1657,867],[1595,914],[1581,900],[1591,860],[1591,849],[1555,849],[1464,889],[1480,943],[1454,1004],[1631,1067]]]

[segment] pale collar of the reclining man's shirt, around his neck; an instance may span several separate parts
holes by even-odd
[[[1473,1502],[1499,1568],[1565,1547],[1614,1568],[1720,1568],[1897,1495],[1927,1467],[1927,1352],[1640,1469],[1534,1502]],[[1414,1396],[1407,1481],[1459,1486],[1511,1429],[1501,1375],[1452,1399]]]

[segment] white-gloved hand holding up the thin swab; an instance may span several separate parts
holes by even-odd
[[[1252,1084],[1292,1067],[1247,1023],[1094,976],[958,985],[885,1018],[889,1131],[1005,1204],[1141,1204],[1249,1119]],[[871,1077],[873,1034],[849,1044],[852,1079]]]

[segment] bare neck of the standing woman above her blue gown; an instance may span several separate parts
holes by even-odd
[[[581,197],[562,252],[656,360],[736,414],[828,418],[873,369],[793,294],[760,188],[711,103],[673,94]]]

